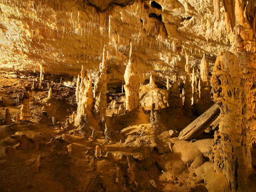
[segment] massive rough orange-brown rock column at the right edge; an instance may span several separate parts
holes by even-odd
[[[256,140],[255,22],[250,23],[248,14],[252,4],[243,8],[240,1],[236,1],[235,6],[225,7],[227,25],[230,23],[232,27],[236,20],[234,34],[230,35],[230,51],[234,53],[219,53],[211,79],[214,102],[221,111],[219,132],[214,134],[215,170],[222,170],[232,191],[245,191],[248,187],[252,172],[251,150]]]

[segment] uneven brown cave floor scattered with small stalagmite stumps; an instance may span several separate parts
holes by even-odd
[[[22,92],[30,91],[33,79],[0,77],[0,93],[4,97],[4,106],[0,108],[2,118],[5,108],[10,109],[12,117],[20,112],[18,98]],[[47,98],[47,81],[42,88],[31,91],[30,122],[0,125],[0,191],[86,191],[97,175],[93,191],[207,191],[214,188],[213,182],[223,179],[223,175],[213,171],[212,162],[205,156],[211,151],[212,135],[202,135],[194,143],[178,141],[169,135],[170,129],[180,131],[196,116],[170,115],[162,109],[161,134],[155,134],[150,126],[150,113],[140,109],[124,121],[116,117],[115,137],[107,143],[99,125],[95,126],[93,140],[92,136],[63,129],[76,111],[75,88],[56,82],[51,82],[51,87],[52,98]],[[115,110],[107,110],[107,114],[110,116]],[[52,116],[57,121],[55,126]],[[62,139],[63,133],[66,141]],[[23,134],[28,137],[28,149],[19,149],[19,136]],[[39,150],[34,149],[34,140],[39,140]],[[69,144],[72,144],[71,154],[67,150]],[[95,159],[97,145],[102,156]],[[14,146],[15,152],[6,154],[7,146]],[[34,173],[32,166],[40,154],[39,172]],[[134,164],[131,184],[127,156]],[[216,179],[206,181],[210,177]],[[225,186],[223,181],[220,185]]]

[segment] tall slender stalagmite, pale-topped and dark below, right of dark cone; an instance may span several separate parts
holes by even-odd
[[[185,84],[184,84],[184,108],[187,110],[188,115],[191,115],[191,98],[192,98],[193,94],[192,94],[189,68],[190,68],[189,56],[186,52],[186,65],[185,65],[186,80],[185,80]]]

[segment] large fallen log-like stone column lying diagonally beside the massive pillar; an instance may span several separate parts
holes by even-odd
[[[220,114],[220,109],[218,105],[214,104],[211,108],[205,111],[201,116],[196,118],[191,124],[189,124],[185,129],[180,132],[180,140],[191,140],[200,135],[207,128],[207,123],[214,120]]]

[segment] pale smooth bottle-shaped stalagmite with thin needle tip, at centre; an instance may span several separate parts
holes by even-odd
[[[128,65],[126,66],[125,73],[124,73],[124,91],[125,91],[125,102],[126,102],[126,109],[131,111],[133,109],[138,108],[139,106],[139,90],[140,90],[140,77],[138,72],[136,72],[134,65],[131,60],[132,56],[132,43],[130,43],[130,59]]]

